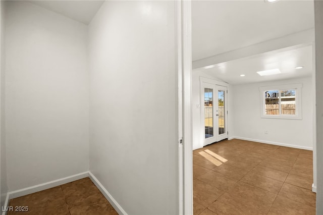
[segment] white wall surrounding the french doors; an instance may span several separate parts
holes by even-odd
[[[214,78],[210,75],[208,75],[205,72],[201,72],[199,70],[193,70],[192,71],[192,145],[193,150],[202,148],[203,147],[203,139],[204,139],[204,133],[201,133],[201,108],[203,104],[201,104],[200,99],[200,77],[209,78],[212,80],[217,80],[219,82],[224,82],[220,79]],[[232,99],[231,99],[231,92],[228,88],[228,112],[230,112],[232,106]],[[200,105],[200,106],[198,106]],[[228,131],[229,131],[229,137],[231,136],[231,119],[230,115],[228,115]]]

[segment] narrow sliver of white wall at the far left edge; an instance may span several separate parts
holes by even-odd
[[[6,196],[8,192],[8,186],[7,186],[7,159],[6,159],[6,130],[5,130],[5,2],[0,1],[0,13],[1,13],[1,27],[0,27],[0,50],[1,50],[1,60],[0,60],[0,65],[1,65],[1,73],[0,73],[0,163],[1,163],[1,168],[0,168],[0,207],[2,208],[5,204],[6,201]]]

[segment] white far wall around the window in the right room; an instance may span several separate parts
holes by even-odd
[[[302,83],[302,120],[260,118],[259,87]],[[237,138],[251,141],[278,143],[290,147],[312,150],[313,148],[313,101],[312,77],[285,81],[234,85],[234,134]],[[264,131],[268,131],[265,134]]]

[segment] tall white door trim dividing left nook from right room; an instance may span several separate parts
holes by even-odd
[[[191,1],[176,1],[179,214],[193,214]]]

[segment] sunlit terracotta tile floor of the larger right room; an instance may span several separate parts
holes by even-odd
[[[237,139],[193,151],[194,214],[315,214],[312,183],[312,151]]]

